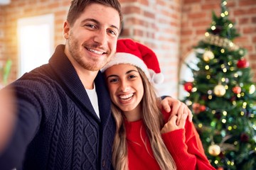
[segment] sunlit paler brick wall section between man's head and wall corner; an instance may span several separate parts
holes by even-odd
[[[120,0],[124,13],[122,38],[133,38],[151,47],[159,57],[164,84],[159,94],[177,95],[181,32],[181,1]]]

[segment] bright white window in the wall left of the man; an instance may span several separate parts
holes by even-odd
[[[18,20],[18,77],[48,63],[53,41],[53,14]]]

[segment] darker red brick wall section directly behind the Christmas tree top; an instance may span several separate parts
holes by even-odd
[[[228,0],[229,19],[235,23],[240,37],[235,44],[245,47],[253,81],[256,81],[256,1]],[[204,37],[212,21],[212,11],[220,15],[220,0],[183,0],[181,23],[181,60],[191,52],[193,45]]]

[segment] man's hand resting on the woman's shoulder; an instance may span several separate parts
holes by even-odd
[[[170,118],[173,115],[177,116],[177,125],[181,123],[181,115],[183,115],[183,113],[186,113],[186,115],[188,115],[188,120],[192,122],[193,115],[191,110],[189,110],[188,106],[186,106],[185,103],[178,101],[176,98],[164,98],[161,101],[161,107],[164,108],[164,111],[171,113]]]

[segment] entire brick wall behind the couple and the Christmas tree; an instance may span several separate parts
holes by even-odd
[[[119,0],[124,12],[122,38],[134,38],[151,47],[159,57],[164,84],[161,94],[178,95],[179,65],[192,45],[203,38],[210,26],[211,11],[220,11],[220,0]],[[14,67],[10,81],[17,74],[17,20],[47,13],[55,15],[55,46],[64,43],[63,21],[70,0],[13,0],[0,6],[0,60],[11,57]],[[256,1],[228,0],[230,19],[241,37],[238,45],[246,47],[247,58],[256,73]],[[1,36],[4,35],[4,36]],[[256,76],[255,76],[256,81]]]

